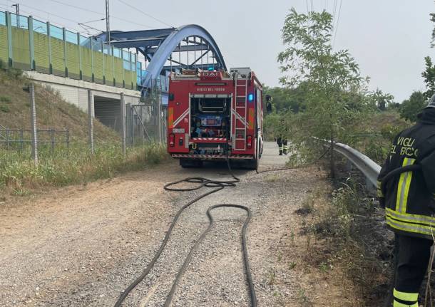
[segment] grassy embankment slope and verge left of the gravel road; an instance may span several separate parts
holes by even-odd
[[[29,83],[20,71],[0,69],[0,125],[11,129],[29,129],[29,93],[23,90]],[[24,154],[16,150],[0,151],[0,197],[24,196],[36,189],[90,182],[113,177],[121,172],[143,168],[165,160],[165,147],[149,143],[121,151],[121,137],[105,125],[94,121],[96,152],[88,149],[88,115],[75,105],[66,103],[51,88],[36,85],[38,129],[66,129],[70,133],[70,148],[56,145],[54,154],[47,146],[39,147],[37,167],[29,159],[30,147]],[[29,135],[24,135],[29,138]],[[0,199],[1,201],[1,199]]]

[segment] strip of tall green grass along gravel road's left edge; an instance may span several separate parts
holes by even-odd
[[[120,173],[143,170],[168,159],[165,146],[150,143],[128,148],[126,156],[119,144],[107,144],[91,154],[86,144],[75,145],[68,153],[47,155],[38,166],[21,155],[0,157],[0,196],[24,196],[41,187],[62,187],[84,184],[96,179],[111,178]]]

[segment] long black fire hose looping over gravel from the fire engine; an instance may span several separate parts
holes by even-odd
[[[183,207],[181,207],[178,210],[178,212],[175,214],[173,222],[170,224],[170,227],[165,234],[165,238],[163,239],[163,242],[160,245],[160,248],[158,249],[157,253],[153,257],[153,260],[151,260],[150,263],[148,264],[148,266],[146,266],[146,268],[142,272],[142,274],[140,274],[140,276],[138,276],[138,278],[135,279],[135,281],[133,281],[133,283],[131,283],[131,285],[128,286],[128,288],[126,288],[125,291],[123,291],[121,296],[118,298],[118,301],[116,301],[115,307],[121,306],[123,301],[127,298],[128,294],[131,293],[131,291],[136,286],[138,286],[140,281],[143,281],[143,279],[145,279],[145,277],[150,273],[151,269],[153,269],[155,262],[158,260],[158,258],[162,254],[163,250],[165,249],[165,246],[168,244],[170,234],[172,233],[173,228],[175,227],[175,224],[177,223],[178,218],[180,217],[180,215],[184,211],[184,209],[188,208],[191,204],[198,202],[198,200],[203,199],[204,197],[206,197],[210,194],[213,194],[215,192],[219,192],[222,189],[225,189],[225,187],[235,187],[236,183],[240,182],[240,179],[237,178],[232,173],[232,170],[230,167],[229,157],[227,157],[227,167],[228,167],[228,171],[232,177],[232,179],[230,179],[230,180],[220,181],[220,180],[210,180],[210,179],[203,178],[203,177],[189,177],[189,178],[178,180],[176,182],[170,182],[164,186],[164,189],[167,191],[178,191],[178,192],[195,191],[195,190],[201,189],[203,187],[214,187],[215,189],[212,189],[211,191],[206,192],[205,194],[202,194],[199,197],[196,197],[195,199],[191,200],[190,202],[188,202],[187,204],[185,204]],[[180,184],[182,182],[188,182],[191,184],[198,184],[198,186],[191,187],[191,188],[184,188],[184,189],[178,189],[178,188],[173,187],[175,184]],[[184,271],[185,271],[186,267],[188,266],[188,264],[190,263],[190,260],[192,259],[192,256],[193,256],[193,253],[195,252],[196,249],[198,249],[198,246],[200,245],[201,241],[203,241],[205,236],[208,234],[210,229],[212,229],[212,227],[213,227],[214,221],[213,221],[213,216],[211,214],[211,211],[213,209],[220,208],[220,207],[239,208],[239,209],[243,209],[247,212],[247,218],[245,219],[245,222],[243,223],[243,227],[242,227],[242,252],[243,252],[243,261],[245,264],[246,279],[247,279],[247,283],[248,283],[249,291],[250,291],[251,306],[257,307],[257,297],[255,295],[255,286],[254,286],[254,283],[252,281],[252,274],[251,274],[251,270],[250,270],[250,261],[249,261],[248,254],[247,254],[247,237],[246,237],[247,225],[250,222],[252,214],[251,214],[251,211],[248,207],[242,206],[240,204],[215,204],[214,206],[208,208],[208,210],[207,210],[207,216],[208,216],[208,220],[209,220],[208,228],[205,229],[205,231],[203,231],[203,233],[200,235],[200,238],[195,242],[192,249],[190,249],[190,252],[189,252],[188,256],[186,257],[186,259],[183,263],[183,266],[181,266],[181,269],[178,271],[178,274],[175,277],[175,280],[174,280],[173,285],[170,289],[170,292],[168,293],[168,296],[166,297],[165,307],[170,306],[170,303],[173,299],[173,295],[174,295],[175,290],[178,286],[178,283],[179,283],[180,279],[183,277]]]

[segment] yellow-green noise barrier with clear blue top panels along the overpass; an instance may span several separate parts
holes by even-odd
[[[0,60],[11,68],[137,88],[135,53],[39,21],[0,11]]]

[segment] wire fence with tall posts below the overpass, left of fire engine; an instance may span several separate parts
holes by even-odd
[[[125,103],[123,93],[102,99],[88,91],[80,102],[87,110],[67,103],[68,93],[44,85],[0,95],[0,163],[83,160],[103,150],[125,156],[150,143],[165,144],[166,108],[159,89],[155,81],[148,97],[135,103]]]

